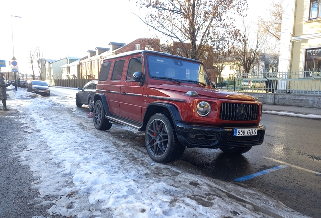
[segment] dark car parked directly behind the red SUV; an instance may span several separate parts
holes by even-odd
[[[97,82],[98,80],[91,80],[84,87],[78,88],[81,90],[76,94],[76,105],[78,107],[85,104],[89,106],[89,111],[93,112],[93,99],[96,94]]]

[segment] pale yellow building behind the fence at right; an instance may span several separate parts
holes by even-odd
[[[313,89],[320,84],[321,0],[284,1],[279,59],[282,71],[289,72],[283,77],[300,79],[296,89]],[[291,81],[279,85],[290,90],[295,86]]]

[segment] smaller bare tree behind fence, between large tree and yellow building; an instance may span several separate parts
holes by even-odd
[[[255,31],[252,33],[251,31]],[[234,59],[243,67],[242,77],[247,78],[250,70],[258,63],[259,55],[266,41],[263,30],[243,21],[242,41],[236,46]]]

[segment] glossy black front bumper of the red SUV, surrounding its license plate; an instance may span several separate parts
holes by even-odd
[[[193,124],[176,123],[178,141],[187,147],[220,148],[237,146],[261,145],[264,141],[265,126],[259,124],[256,136],[234,136],[235,128],[244,127],[215,127]]]

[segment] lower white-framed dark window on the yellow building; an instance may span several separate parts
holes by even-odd
[[[304,77],[320,76],[321,48],[307,49],[305,52]]]

